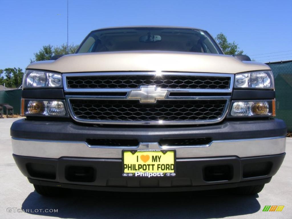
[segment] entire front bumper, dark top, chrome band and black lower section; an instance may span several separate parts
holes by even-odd
[[[31,183],[109,191],[205,190],[268,183],[285,157],[286,131],[279,119],[183,128],[109,128],[23,119],[11,126],[15,162]],[[121,175],[123,149],[162,149],[160,139],[202,137],[212,141],[171,147],[176,151],[175,176]],[[135,138],[140,144],[92,146],[87,138]]]

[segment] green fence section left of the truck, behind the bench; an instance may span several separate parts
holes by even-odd
[[[8,103],[13,106],[14,114],[20,114],[21,89],[0,91],[0,103]],[[5,108],[4,108],[4,113]]]

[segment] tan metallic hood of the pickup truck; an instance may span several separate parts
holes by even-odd
[[[242,62],[231,55],[207,53],[131,51],[64,55],[57,60],[33,62],[27,69],[56,72],[171,71],[234,74],[270,70],[258,62]]]

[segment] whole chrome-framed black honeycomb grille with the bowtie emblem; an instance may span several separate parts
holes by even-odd
[[[234,80],[231,74],[195,72],[89,72],[62,77],[75,121],[145,125],[222,121]],[[163,98],[160,89],[166,92]]]

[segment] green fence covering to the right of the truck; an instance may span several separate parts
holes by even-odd
[[[276,118],[286,122],[292,131],[292,60],[266,63],[273,71],[276,90]]]

